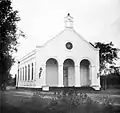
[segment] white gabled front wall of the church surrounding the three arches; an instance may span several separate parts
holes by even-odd
[[[71,50],[65,47],[67,42],[73,44]],[[91,69],[92,84],[99,85],[99,79],[96,79],[99,69],[99,51],[82,39],[73,29],[65,29],[55,38],[48,41],[42,48],[38,49],[36,56],[37,73],[39,72],[39,67],[43,68],[41,78],[37,79],[38,86],[46,85],[45,65],[49,58],[55,58],[60,66],[63,65],[65,59],[70,58],[75,62],[75,66],[78,67],[81,60],[88,59],[91,66],[94,67]],[[80,70],[78,71],[80,73]]]

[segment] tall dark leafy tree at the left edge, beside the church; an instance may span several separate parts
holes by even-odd
[[[0,0],[0,87],[8,80],[14,63],[13,52],[17,51],[18,38],[24,36],[18,31],[18,11],[13,10],[11,0]]]

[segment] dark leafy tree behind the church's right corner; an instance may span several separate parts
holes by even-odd
[[[119,49],[113,47],[113,43],[101,43],[97,42],[94,44],[95,48],[99,48],[100,58],[100,75],[108,75],[111,72],[119,72],[119,68],[115,67],[115,61],[118,60]],[[106,88],[106,81],[103,81],[104,87]]]

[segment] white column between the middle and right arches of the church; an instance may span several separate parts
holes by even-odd
[[[75,66],[75,87],[80,87],[80,67]]]

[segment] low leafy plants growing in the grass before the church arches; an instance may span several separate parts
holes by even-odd
[[[49,112],[65,112],[65,113],[97,113],[111,112],[111,100],[107,96],[102,97],[102,104],[91,99],[86,93],[69,90],[55,93],[58,99],[52,99],[46,108]],[[60,96],[59,96],[60,94]]]

